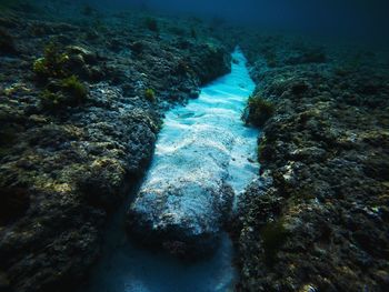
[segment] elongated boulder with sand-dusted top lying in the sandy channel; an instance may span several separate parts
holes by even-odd
[[[171,139],[162,131],[153,164],[128,212],[128,229],[147,245],[158,245],[180,256],[211,252],[232,205],[226,183],[233,137],[209,128],[193,128]],[[197,137],[194,137],[194,134]],[[169,138],[170,137],[170,138]],[[166,141],[163,141],[166,140]]]

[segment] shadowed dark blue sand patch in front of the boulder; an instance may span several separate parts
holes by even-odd
[[[124,239],[123,239],[124,240]],[[98,266],[90,292],[225,292],[232,291],[236,271],[227,234],[212,258],[181,262],[168,254],[143,250],[124,240]]]

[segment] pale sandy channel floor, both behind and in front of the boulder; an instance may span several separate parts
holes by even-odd
[[[222,137],[207,134],[207,130],[217,128],[219,132],[233,137],[227,163],[227,181],[238,194],[257,177],[259,165],[255,158],[258,130],[247,128],[241,121],[241,112],[255,84],[249,77],[246,59],[237,49],[232,53],[231,73],[205,87],[198,99],[191,100],[184,108],[176,108],[167,113],[164,127],[159,135],[156,155],[146,182],[156,175],[174,175],[188,169],[190,161],[202,160],[193,147],[186,155],[190,161],[182,161],[169,154],[179,143],[197,141],[202,137],[202,147]],[[228,121],[228,122],[227,122]],[[199,135],[199,137],[197,137]],[[196,148],[196,143],[194,143]],[[221,150],[220,150],[221,151]],[[225,157],[225,155],[221,155]],[[168,163],[179,172],[161,172],[158,168]],[[186,164],[188,163],[188,164]],[[203,161],[206,163],[206,161]],[[146,183],[144,182],[144,183]],[[221,235],[220,245],[210,258],[199,261],[181,261],[163,252],[142,249],[128,239],[122,226],[124,210],[117,215],[109,231],[106,254],[94,269],[88,288],[80,291],[93,292],[216,292],[232,291],[237,281],[233,266],[233,246],[227,233]]]

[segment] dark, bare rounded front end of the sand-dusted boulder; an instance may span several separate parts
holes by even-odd
[[[128,228],[147,245],[191,258],[213,251],[233,192],[222,181],[178,179],[142,188],[128,213]]]

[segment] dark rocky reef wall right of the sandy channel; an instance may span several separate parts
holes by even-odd
[[[388,54],[266,34],[242,48],[275,112],[265,183],[236,221],[238,291],[386,291]]]

